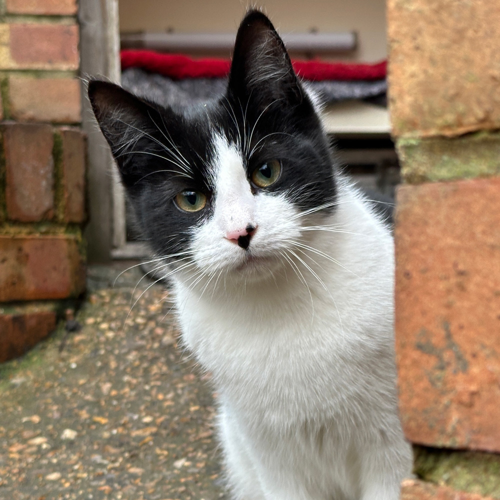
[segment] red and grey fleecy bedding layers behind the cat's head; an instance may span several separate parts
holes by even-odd
[[[325,103],[367,99],[385,104],[386,61],[359,64],[292,60],[292,64]],[[121,51],[123,87],[163,105],[221,95],[229,67],[229,59],[193,59],[152,50]]]

